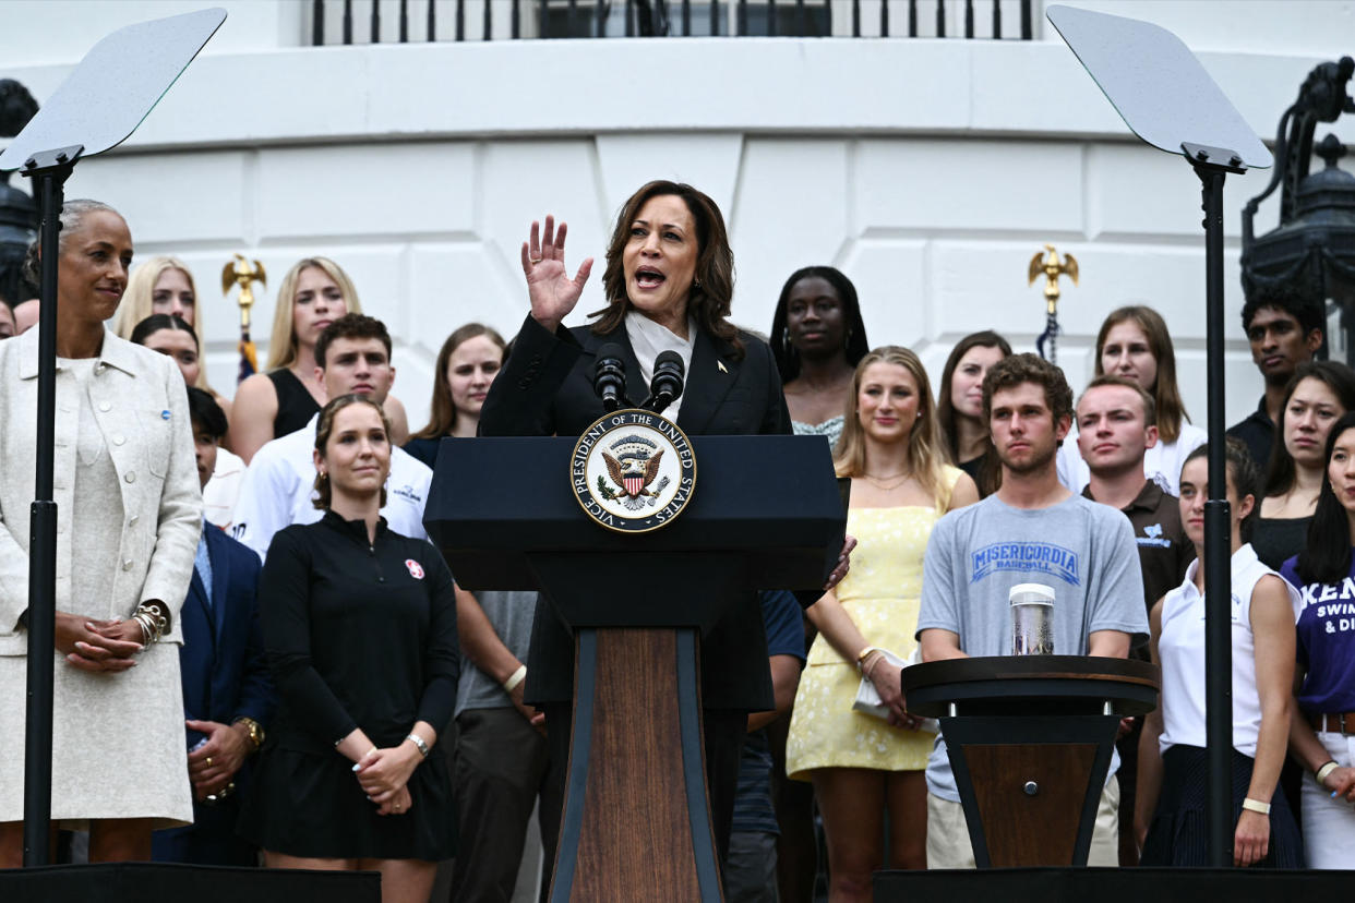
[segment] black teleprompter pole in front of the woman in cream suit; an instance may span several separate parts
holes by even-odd
[[[51,498],[57,402],[57,250],[64,185],[84,148],[34,154],[23,167],[42,215],[38,233],[38,472],[28,520],[28,696],[23,770],[23,864],[51,858],[51,707],[57,634],[57,504]]]

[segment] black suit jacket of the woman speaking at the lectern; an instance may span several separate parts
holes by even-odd
[[[771,349],[740,333],[744,356],[728,343],[696,332],[678,425],[690,436],[790,433],[790,413]],[[484,436],[579,436],[603,416],[592,387],[598,349],[622,349],[626,394],[637,405],[649,395],[625,326],[596,336],[587,326],[550,333],[530,315],[512,355],[480,412]],[[527,662],[526,696],[533,703],[573,697],[573,638],[547,605],[538,605]],[[774,708],[767,639],[757,594],[749,593],[705,638],[701,686],[706,708]]]

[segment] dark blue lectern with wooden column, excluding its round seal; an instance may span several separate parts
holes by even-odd
[[[553,902],[721,899],[699,636],[756,605],[755,590],[822,586],[841,551],[846,512],[822,439],[691,444],[699,477],[682,514],[625,535],[576,500],[573,439],[446,439],[439,449],[424,523],[457,583],[539,590],[576,636]]]

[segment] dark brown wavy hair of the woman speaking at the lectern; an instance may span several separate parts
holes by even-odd
[[[726,343],[733,349],[734,359],[741,359],[744,343],[729,322],[729,309],[734,299],[734,252],[729,246],[725,218],[714,200],[682,181],[657,179],[646,183],[622,206],[611,241],[607,242],[607,269],[602,275],[607,306],[588,314],[593,318],[592,330],[604,336],[619,329],[625,321],[630,298],[626,295],[622,257],[626,242],[630,241],[630,225],[640,217],[645,202],[661,195],[682,198],[696,223],[696,272],[687,294],[687,314],[696,321],[698,329]]]

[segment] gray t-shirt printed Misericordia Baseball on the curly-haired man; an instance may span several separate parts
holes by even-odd
[[[1131,644],[1148,635],[1144,579],[1134,531],[1123,513],[1081,495],[1050,508],[1012,508],[997,495],[936,521],[923,562],[919,635],[959,635],[967,655],[1011,655],[1016,583],[1054,588],[1054,654],[1085,655],[1095,631],[1123,631]],[[1119,768],[1111,762],[1110,774]],[[946,743],[938,736],[927,788],[958,801]]]

